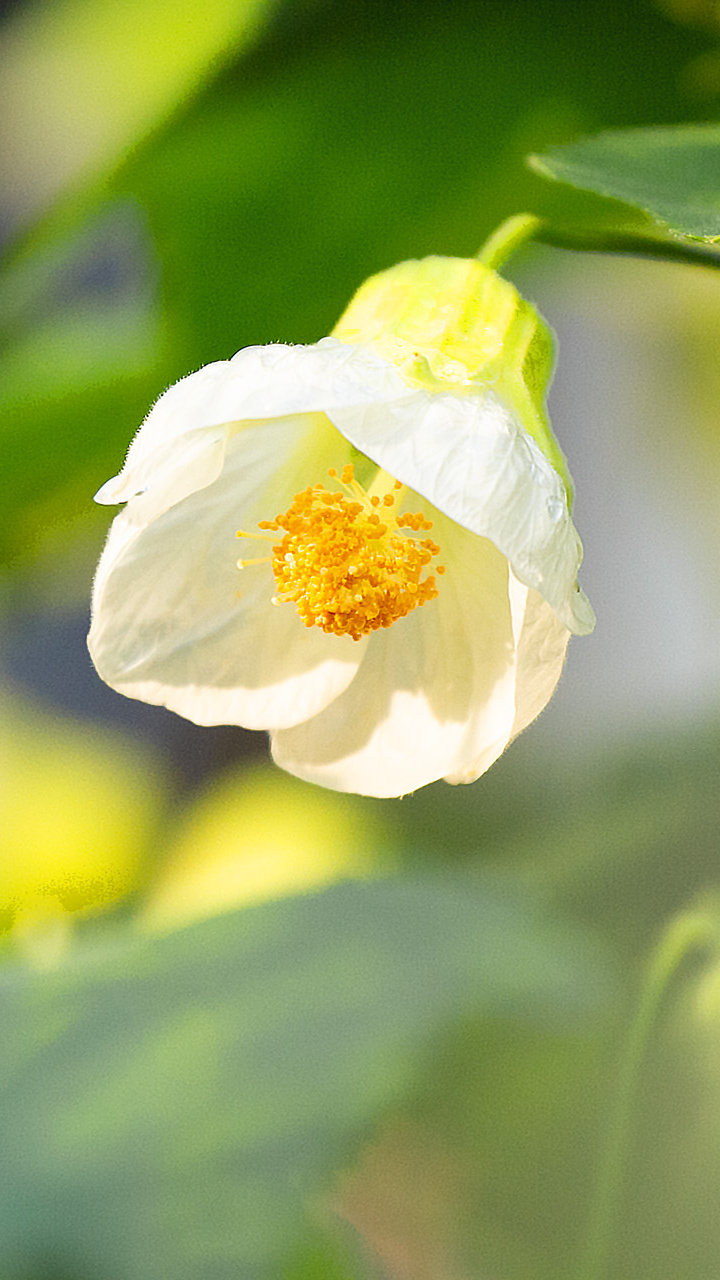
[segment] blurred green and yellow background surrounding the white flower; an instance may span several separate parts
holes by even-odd
[[[719,883],[720,282],[534,247],[598,614],[491,773],[402,801],[85,648],[152,399],[547,207],[530,151],[714,120],[712,0],[15,0],[0,18],[0,1270],[577,1274],[643,959]],[[720,978],[644,1064],[610,1274],[720,1275]]]

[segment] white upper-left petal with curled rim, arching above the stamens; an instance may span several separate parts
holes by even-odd
[[[165,490],[176,485],[174,500],[182,500],[219,474],[233,424],[386,403],[406,394],[407,384],[391,364],[334,338],[307,347],[246,347],[232,360],[190,374],[160,396],[135,436],[123,470],[102,485],[96,500],[127,502],[156,484]],[[200,466],[192,488],[193,458]]]

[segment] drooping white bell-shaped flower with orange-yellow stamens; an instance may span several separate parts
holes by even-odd
[[[266,728],[284,769],[377,796],[477,778],[547,703],[569,634],[593,626],[552,438],[543,452],[518,376],[534,312],[489,273],[518,300],[502,349],[488,355],[484,315],[482,358],[457,358],[436,282],[442,342],[423,346],[395,303],[398,273],[425,266],[410,292],[427,321],[428,264],[433,280],[437,264],[471,269],[477,311],[480,264],[401,264],[368,282],[342,340],[250,347],[170,387],[97,494],[127,502],[95,581],[102,678],[199,724]]]

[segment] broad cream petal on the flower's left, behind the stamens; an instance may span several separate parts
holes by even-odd
[[[88,636],[102,678],[200,724],[284,727],[315,716],[352,680],[365,641],[306,630],[274,607],[269,543],[236,538],[350,456],[323,415],[247,424],[218,479],[142,521],[132,499],[97,570]]]

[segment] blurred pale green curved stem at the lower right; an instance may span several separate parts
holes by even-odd
[[[720,951],[720,918],[717,909],[711,906],[676,916],[650,956],[605,1129],[605,1146],[577,1280],[609,1280],[611,1275],[614,1231],[625,1183],[633,1110],[647,1046],[662,998],[680,965],[693,952],[706,950]]]

